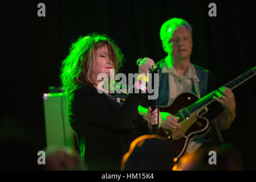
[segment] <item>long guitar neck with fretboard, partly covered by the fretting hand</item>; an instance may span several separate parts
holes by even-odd
[[[236,88],[237,86],[241,85],[243,82],[249,80],[251,77],[256,75],[256,67],[250,69],[249,71],[243,73],[242,75],[238,76],[237,78],[234,78],[234,80],[231,80],[224,86],[227,88],[230,88],[231,90]],[[214,100],[214,97],[218,97],[220,95],[220,92],[217,90],[214,90],[213,92],[209,93],[205,97],[201,98],[197,102],[194,102],[194,104],[186,107],[186,110],[192,114],[198,110],[201,110],[202,108],[208,106],[211,104]]]

